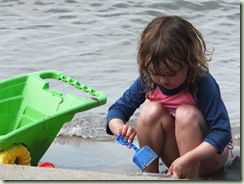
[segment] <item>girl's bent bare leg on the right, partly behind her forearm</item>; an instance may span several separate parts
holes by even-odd
[[[202,143],[204,137],[209,133],[202,113],[191,105],[181,105],[176,110],[175,135],[178,144],[180,156],[194,149]],[[226,159],[228,158],[228,150],[224,153],[203,160],[196,169],[199,169],[199,176],[205,176],[218,171]]]

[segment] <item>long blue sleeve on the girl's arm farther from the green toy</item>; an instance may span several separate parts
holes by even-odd
[[[209,73],[198,82],[197,99],[205,120],[211,128],[204,141],[214,146],[218,153],[222,153],[232,138],[231,127],[219,86]]]

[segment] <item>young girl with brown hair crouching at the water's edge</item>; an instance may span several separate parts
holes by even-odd
[[[201,33],[178,16],[155,18],[142,32],[140,77],[108,110],[107,133],[137,135],[168,167],[167,175],[193,179],[218,171],[231,141],[228,113],[210,75]],[[126,124],[147,102],[136,129]],[[158,173],[159,159],[145,172]]]

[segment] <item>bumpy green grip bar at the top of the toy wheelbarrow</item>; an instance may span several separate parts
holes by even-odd
[[[84,92],[89,93],[92,96],[94,96],[94,98],[92,98],[92,100],[99,102],[99,105],[105,104],[107,102],[107,96],[102,91],[98,91],[94,88],[91,88],[91,87],[87,86],[86,84],[81,84],[79,81],[77,81],[71,77],[68,77],[68,76],[64,75],[63,73],[60,73],[57,71],[52,71],[52,70],[47,70],[47,71],[38,72],[37,74],[42,79],[52,78],[52,79],[56,79],[56,80],[61,80],[63,82],[67,82],[68,84],[70,84],[78,89],[81,89]]]

